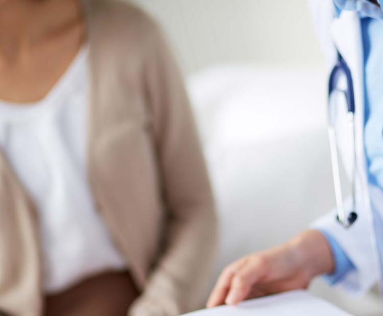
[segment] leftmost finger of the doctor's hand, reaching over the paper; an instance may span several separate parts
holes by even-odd
[[[222,271],[207,301],[207,308],[222,305],[225,303],[226,296],[230,290],[231,280],[235,273],[246,264],[246,261],[246,257],[241,258],[237,261],[234,261]]]

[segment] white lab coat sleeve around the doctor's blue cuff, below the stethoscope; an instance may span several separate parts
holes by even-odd
[[[311,228],[331,236],[333,242],[340,246],[354,266],[354,269],[334,282],[335,287],[340,287],[351,294],[360,295],[367,292],[376,283],[379,272],[375,260],[376,253],[372,247],[373,230],[367,212],[358,213],[356,222],[350,228],[345,229],[336,220],[336,212],[333,210],[314,222]]]

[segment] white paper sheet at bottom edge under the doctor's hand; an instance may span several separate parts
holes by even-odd
[[[187,316],[350,316],[349,313],[306,291],[249,300],[237,306],[219,306],[186,314]]]

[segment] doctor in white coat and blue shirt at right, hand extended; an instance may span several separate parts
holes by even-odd
[[[330,120],[355,183],[354,198],[344,205],[357,219],[347,228],[331,212],[289,242],[233,262],[219,277],[208,307],[306,288],[319,275],[356,294],[382,284],[383,2],[313,0],[311,5],[331,69],[341,58],[352,77],[347,87],[345,75],[337,75],[335,90],[353,90],[354,133],[346,126],[347,103],[330,108],[335,112]]]

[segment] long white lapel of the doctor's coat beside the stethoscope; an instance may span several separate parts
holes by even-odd
[[[355,97],[356,202],[369,208],[367,164],[364,149],[364,61],[361,21],[357,12],[343,11],[331,27],[334,45],[351,70]]]

